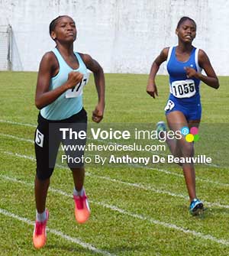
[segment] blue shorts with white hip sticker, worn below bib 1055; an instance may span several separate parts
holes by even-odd
[[[192,120],[200,120],[202,118],[202,105],[200,101],[182,102],[174,96],[169,96],[165,108],[166,115],[173,111],[182,112],[188,122]]]

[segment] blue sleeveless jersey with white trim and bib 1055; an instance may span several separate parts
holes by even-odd
[[[200,79],[187,78],[185,66],[192,67],[201,72],[198,66],[198,49],[193,47],[189,60],[182,62],[176,58],[176,47],[170,47],[167,58],[167,70],[169,73],[169,99],[181,104],[200,102],[199,83]]]

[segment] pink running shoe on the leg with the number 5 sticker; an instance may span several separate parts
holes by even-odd
[[[49,212],[46,210],[46,220],[44,222],[35,222],[34,225],[34,234],[33,234],[33,242],[34,247],[39,249],[43,247],[46,243],[47,233],[46,233],[46,225],[47,220],[49,219]]]

